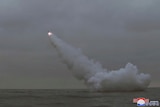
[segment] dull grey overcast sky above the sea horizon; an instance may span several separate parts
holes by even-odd
[[[49,43],[53,31],[108,70],[128,62],[160,86],[159,0],[1,0],[0,88],[85,88]]]

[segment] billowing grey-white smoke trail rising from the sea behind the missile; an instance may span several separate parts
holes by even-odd
[[[57,36],[50,36],[62,61],[73,72],[76,78],[84,80],[86,86],[94,91],[137,91],[145,90],[150,83],[150,75],[138,73],[131,63],[115,71],[107,71],[99,62],[88,59],[77,49]]]

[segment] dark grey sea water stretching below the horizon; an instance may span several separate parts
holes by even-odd
[[[136,107],[135,97],[160,100],[160,88],[144,92],[67,90],[0,90],[0,107]]]

